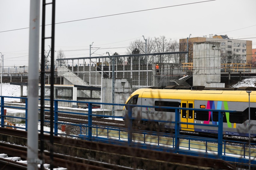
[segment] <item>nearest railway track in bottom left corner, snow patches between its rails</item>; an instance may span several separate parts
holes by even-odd
[[[10,159],[8,157],[0,158],[0,165],[8,169],[11,167],[26,169],[26,158],[27,158],[27,147],[13,145],[5,142],[0,142],[0,153],[5,152],[6,155],[11,156]],[[40,156],[40,155],[38,155]],[[93,161],[78,157],[67,156],[63,154],[54,153],[54,162],[53,165],[55,168],[66,168],[66,169],[92,169],[92,170],[107,170],[107,169],[115,169],[115,170],[131,170],[132,168],[118,166],[110,163],[102,163],[99,161]],[[50,153],[44,151],[44,162],[47,165],[50,163]],[[11,166],[9,165],[11,164]]]

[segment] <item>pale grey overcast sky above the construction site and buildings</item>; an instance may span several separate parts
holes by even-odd
[[[66,23],[55,25],[55,51],[62,49],[66,58],[88,57],[93,42],[92,53],[99,49],[92,56],[106,55],[107,51],[122,55],[130,41],[144,40],[142,35],[178,41],[190,34],[227,34],[233,39],[252,40],[256,48],[255,0],[204,1],[56,0],[55,21]],[[29,6],[29,0],[0,0],[0,52],[4,54],[5,68],[28,66]],[[48,5],[46,24],[51,23],[50,8]],[[128,13],[139,10],[146,11]],[[107,16],[119,13],[126,14]],[[88,19],[93,17],[100,18]],[[9,31],[14,29],[20,30]],[[46,29],[49,37],[50,26]],[[48,45],[51,46],[50,40],[45,41],[46,51],[50,49]]]

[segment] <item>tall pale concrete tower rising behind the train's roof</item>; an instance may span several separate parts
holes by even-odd
[[[193,45],[193,86],[224,87],[221,84],[220,42],[198,42]]]

